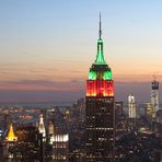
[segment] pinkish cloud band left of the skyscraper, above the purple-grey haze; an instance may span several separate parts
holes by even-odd
[[[26,91],[77,91],[83,89],[81,80],[51,81],[51,80],[18,80],[0,81],[0,90],[26,90]]]

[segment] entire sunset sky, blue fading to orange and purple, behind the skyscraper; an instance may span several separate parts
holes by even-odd
[[[84,96],[100,11],[116,97],[148,102],[162,81],[161,0],[0,0],[0,102]]]

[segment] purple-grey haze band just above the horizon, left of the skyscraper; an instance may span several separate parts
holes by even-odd
[[[0,103],[18,102],[74,102],[83,91],[0,91]]]

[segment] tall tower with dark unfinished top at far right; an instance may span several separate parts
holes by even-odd
[[[157,112],[159,111],[159,82],[157,81],[155,77],[152,81],[151,104],[153,106],[152,116],[154,118]]]

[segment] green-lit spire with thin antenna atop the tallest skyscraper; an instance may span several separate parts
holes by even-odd
[[[102,27],[101,27],[101,13],[100,13],[100,26],[99,26],[99,39],[97,39],[97,54],[95,63],[96,65],[105,65],[104,54],[103,54],[103,39],[102,39]]]

